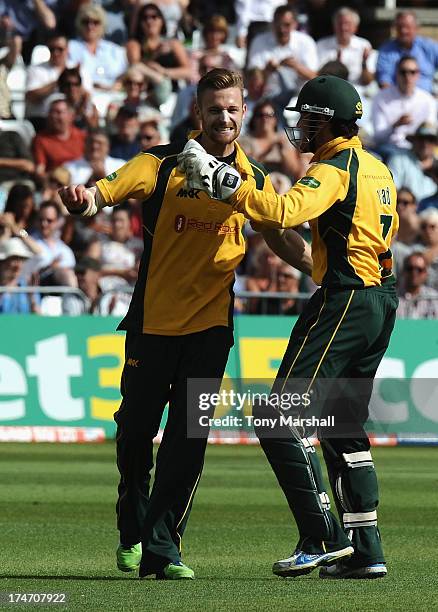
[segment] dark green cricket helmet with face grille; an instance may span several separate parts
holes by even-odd
[[[287,127],[286,134],[290,142],[300,151],[313,140],[321,129],[322,121],[339,119],[355,121],[362,117],[362,101],[356,89],[344,79],[332,75],[322,75],[308,81],[300,93],[295,106],[286,110],[305,114],[301,119],[301,128]]]

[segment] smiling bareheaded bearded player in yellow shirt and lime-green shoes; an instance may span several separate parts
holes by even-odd
[[[198,85],[197,107],[203,130],[192,136],[254,188],[274,193],[263,168],[235,143],[245,113],[241,76],[218,69],[207,73]],[[197,410],[188,405],[187,380],[209,379],[203,391],[219,390],[233,344],[234,271],[245,253],[245,216],[200,189],[186,188],[177,167],[186,142],[140,153],[96,187],[60,190],[70,213],[81,216],[127,198],[142,200],[144,252],[129,311],[119,325],[127,334],[123,400],[115,414],[117,566],[170,580],[194,577],[181,561],[181,539],[208,434],[205,428],[199,437],[187,434],[190,412]],[[290,264],[310,272],[307,245],[296,232],[266,237]],[[152,440],[167,403],[150,490]]]

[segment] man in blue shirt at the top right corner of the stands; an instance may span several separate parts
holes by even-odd
[[[418,35],[414,11],[401,11],[395,18],[396,36],[379,49],[376,78],[380,87],[396,84],[397,64],[404,55],[415,57],[420,69],[418,87],[432,91],[433,78],[438,68],[438,42]]]

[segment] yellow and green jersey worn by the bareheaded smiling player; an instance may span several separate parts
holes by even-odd
[[[177,168],[184,145],[154,147],[97,182],[106,205],[126,198],[143,202],[144,252],[119,329],[170,336],[232,327],[232,287],[245,253],[245,217],[203,191],[187,190]],[[274,193],[262,167],[238,144],[235,166],[249,186]]]

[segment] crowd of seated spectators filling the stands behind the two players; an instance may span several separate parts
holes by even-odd
[[[437,318],[438,39],[404,9],[393,36],[373,48],[358,35],[364,3],[346,4],[0,0],[0,313],[126,312],[143,245],[141,202],[73,218],[57,190],[92,186],[140,151],[199,129],[197,82],[224,67],[244,77],[239,142],[280,193],[309,165],[285,136],[296,120],[285,107],[318,74],[355,85],[359,135],[398,190],[399,316]],[[299,314],[315,286],[247,225],[235,291],[260,298],[239,297],[236,313]],[[299,231],[308,238],[307,225]]]

